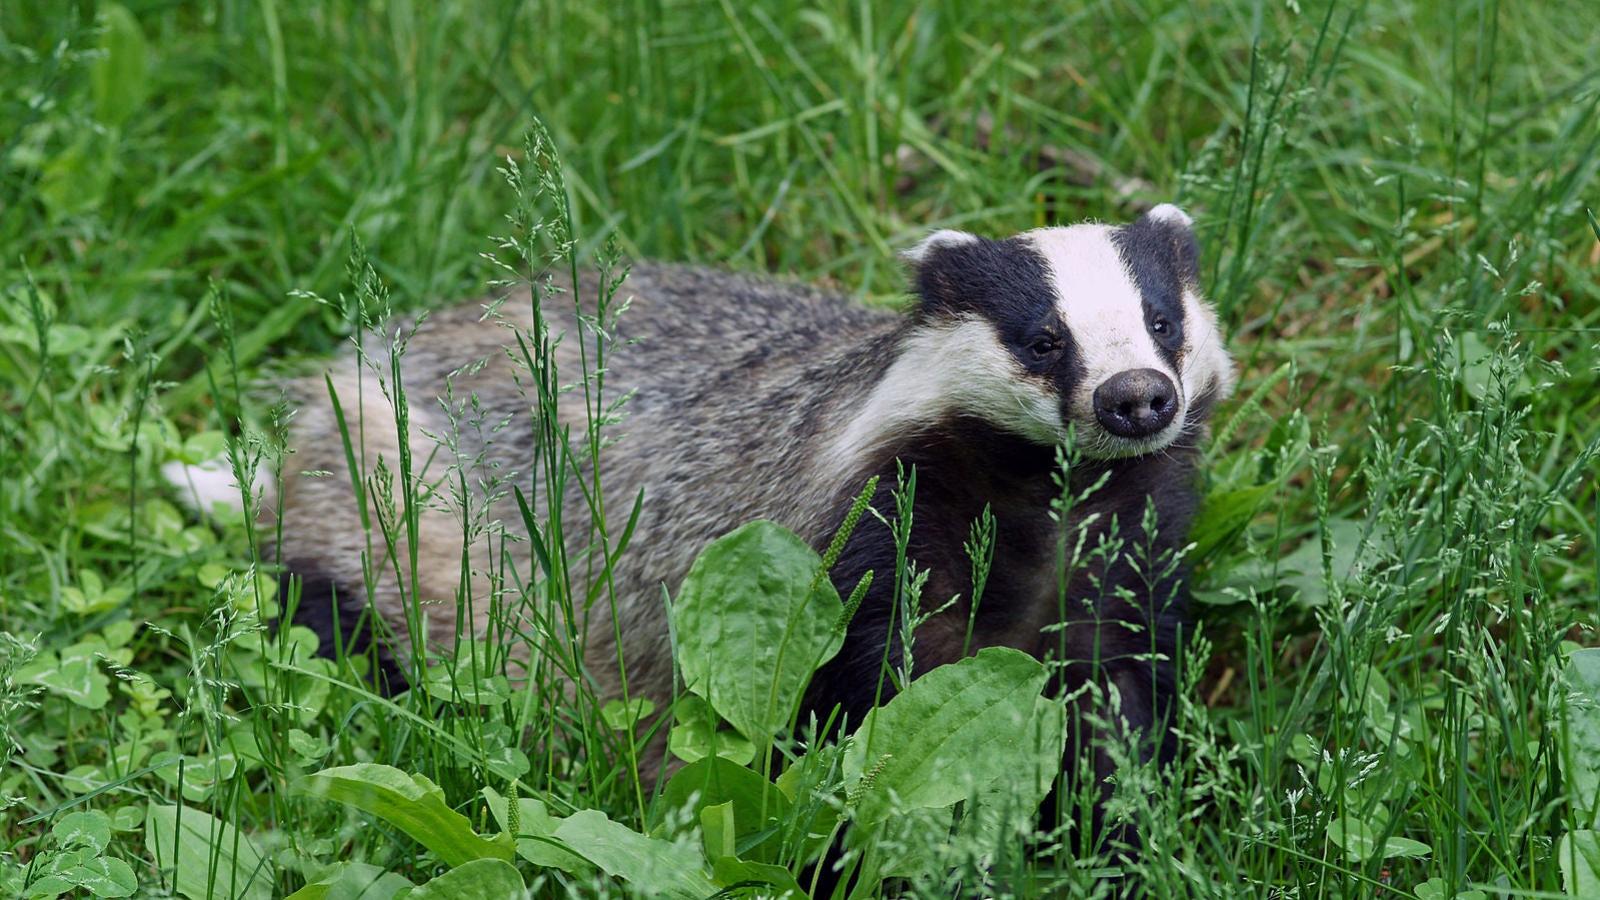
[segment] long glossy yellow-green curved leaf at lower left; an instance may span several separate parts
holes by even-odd
[[[467,817],[445,804],[438,785],[422,775],[360,762],[307,775],[299,790],[382,818],[451,866],[482,858],[510,862],[514,855],[510,841],[482,838]]]

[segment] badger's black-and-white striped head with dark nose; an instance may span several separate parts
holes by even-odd
[[[1232,391],[1178,207],[1005,240],[939,231],[906,259],[920,307],[888,381],[946,413],[1038,444],[1072,424],[1085,456],[1120,458],[1171,445]]]

